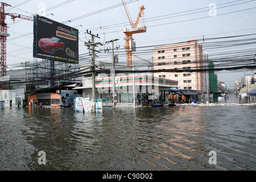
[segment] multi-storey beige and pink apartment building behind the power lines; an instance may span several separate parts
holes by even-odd
[[[204,68],[203,51],[197,40],[187,43],[156,47],[153,52],[154,69],[200,69]],[[203,72],[160,72],[155,77],[177,80],[179,89],[197,90],[204,93]]]

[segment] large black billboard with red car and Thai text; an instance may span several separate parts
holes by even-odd
[[[33,56],[79,63],[79,31],[44,16],[34,16]]]

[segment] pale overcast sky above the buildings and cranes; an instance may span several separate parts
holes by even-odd
[[[97,42],[119,39],[115,46],[123,48],[125,35],[122,27],[130,27],[121,0],[6,0],[3,2],[13,6],[5,7],[6,13],[27,16],[40,14],[79,29],[79,55],[89,52],[84,46],[84,42],[90,39],[90,36],[85,34],[87,29],[100,36],[101,39],[96,39]],[[160,44],[200,40],[203,36],[207,39],[255,34],[256,31],[256,1],[126,0],[126,2],[130,2],[127,7],[133,22],[137,19],[139,7],[143,5],[146,8],[144,19],[147,32],[133,35],[137,47],[153,46],[150,47],[152,49]],[[32,61],[33,22],[18,18],[13,22],[10,16],[6,16],[6,23],[10,34],[7,38],[7,65]],[[203,41],[199,43],[204,48]],[[99,49],[104,48],[108,48],[108,45]],[[250,48],[256,53],[255,44]],[[214,56],[216,51],[220,52],[220,49],[209,49],[207,51],[209,58]],[[143,58],[152,60],[151,57],[152,55],[148,53]],[[105,58],[105,61],[111,60]],[[246,70],[218,73],[218,80],[233,86],[234,81],[241,78],[245,72]]]

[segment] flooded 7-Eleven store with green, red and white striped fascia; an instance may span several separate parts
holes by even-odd
[[[148,97],[148,94],[160,96],[162,94],[168,101],[170,88],[177,88],[178,82],[165,78],[152,77],[147,75],[135,75],[135,98],[137,94],[141,99]],[[112,106],[113,100],[113,79],[112,77],[98,77],[96,82],[96,98],[106,99],[108,106]],[[82,85],[73,89],[82,89],[83,97],[92,97],[92,77],[83,77]],[[115,95],[117,105],[133,102],[133,76],[115,76]],[[137,100],[136,100],[137,101]]]

